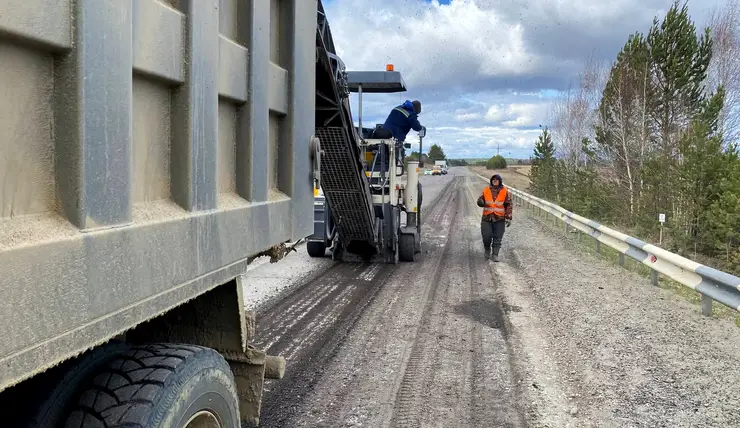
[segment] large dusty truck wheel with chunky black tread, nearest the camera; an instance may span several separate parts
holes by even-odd
[[[65,428],[237,428],[228,363],[194,345],[137,346],[114,358],[79,395]]]

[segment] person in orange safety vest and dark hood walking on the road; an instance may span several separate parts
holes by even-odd
[[[504,187],[500,175],[494,174],[490,183],[478,198],[478,206],[483,207],[480,233],[483,237],[486,260],[490,260],[493,255],[493,261],[497,262],[504,232],[511,225],[512,203],[511,195]]]

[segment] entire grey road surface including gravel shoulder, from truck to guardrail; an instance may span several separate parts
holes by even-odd
[[[285,263],[290,278],[248,274],[280,289],[255,303],[254,345],[288,363],[267,382],[261,426],[740,426],[732,322],[579,251],[521,207],[501,263],[487,262],[485,182],[462,168],[424,181],[416,263],[293,254],[265,266]]]

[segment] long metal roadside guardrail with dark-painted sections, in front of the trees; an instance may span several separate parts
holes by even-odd
[[[488,182],[488,178],[478,175]],[[652,283],[658,285],[659,274],[691,288],[701,294],[702,314],[712,315],[712,301],[717,301],[736,311],[740,311],[740,278],[715,268],[702,265],[660,247],[648,244],[640,239],[610,229],[598,222],[589,220],[563,207],[544,199],[522,192],[513,187],[513,199],[518,205],[527,204],[528,208],[537,210],[538,215],[553,216],[553,222],[560,220],[565,233],[572,227],[579,231],[578,239],[587,234],[596,240],[596,251],[601,251],[601,243],[619,252],[619,264],[624,266],[624,256],[648,266],[652,270]]]

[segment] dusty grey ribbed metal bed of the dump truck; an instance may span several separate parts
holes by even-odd
[[[312,233],[316,8],[2,2],[0,390]]]

